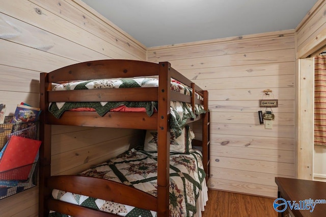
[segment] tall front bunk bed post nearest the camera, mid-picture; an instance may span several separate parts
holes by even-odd
[[[157,216],[169,216],[171,65],[159,63],[157,120]]]

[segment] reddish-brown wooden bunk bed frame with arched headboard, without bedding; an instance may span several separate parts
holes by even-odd
[[[73,80],[129,78],[158,76],[156,88],[92,89],[72,91],[52,91],[52,84]],[[192,88],[195,94],[186,96],[171,90],[171,78]],[[55,200],[51,197],[53,188],[80,195],[101,198],[121,204],[128,204],[157,212],[157,216],[169,216],[169,167],[170,167],[170,101],[201,104],[205,114],[187,120],[187,123],[202,123],[202,141],[193,140],[202,147],[203,168],[206,181],[209,177],[209,112],[208,92],[199,88],[191,80],[174,70],[169,62],[149,63],[132,60],[99,60],[78,63],[40,75],[40,181],[39,216],[47,216],[55,210],[72,216],[117,216],[85,207]],[[141,112],[107,112],[99,116],[97,112],[66,111],[58,119],[49,111],[53,102],[97,102],[97,101],[157,101],[157,112],[148,116]],[[157,130],[157,197],[137,188],[105,179],[86,176],[51,176],[51,125],[75,125],[92,127],[113,127]],[[92,187],[90,187],[92,186]],[[110,194],[107,194],[110,192]],[[123,197],[121,197],[123,195]],[[141,198],[141,200],[139,200]]]

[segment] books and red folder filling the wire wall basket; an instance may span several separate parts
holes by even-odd
[[[40,113],[40,108],[22,102],[14,115],[6,116],[6,123],[0,124],[0,187],[26,181],[33,172],[41,145],[35,140]]]

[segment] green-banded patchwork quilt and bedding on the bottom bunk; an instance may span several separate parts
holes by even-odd
[[[157,196],[157,152],[131,149],[83,173],[132,185]],[[191,149],[188,154],[170,153],[170,216],[201,216],[207,201],[207,187],[202,153]],[[53,189],[52,197],[75,205],[122,216],[156,216],[155,211]],[[49,216],[68,216],[50,211]]]

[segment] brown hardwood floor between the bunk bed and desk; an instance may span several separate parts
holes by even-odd
[[[202,217],[277,217],[274,200],[209,189]]]

